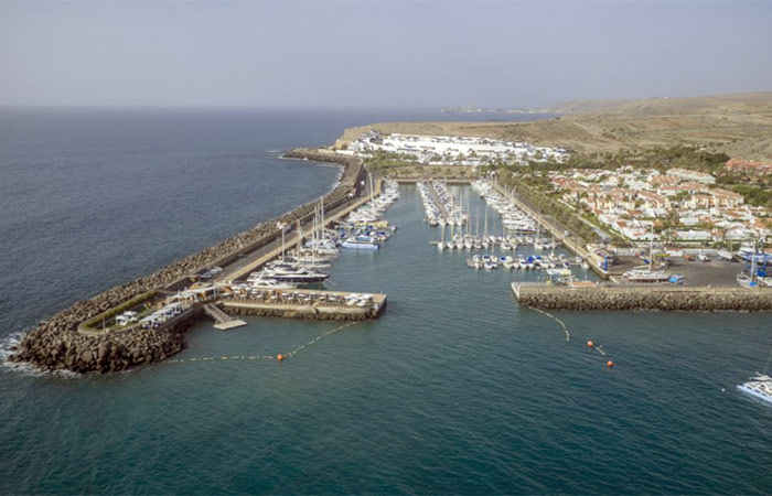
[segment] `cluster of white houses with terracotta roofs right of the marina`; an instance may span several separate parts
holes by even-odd
[[[738,244],[770,234],[769,209],[718,187],[707,173],[621,168],[550,171],[561,200],[630,241]]]

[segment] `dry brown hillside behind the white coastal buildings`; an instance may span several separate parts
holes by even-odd
[[[530,122],[382,122],[346,129],[335,145],[377,129],[411,134],[484,136],[586,152],[697,144],[731,157],[772,160],[772,91],[576,101],[547,110],[565,115]]]

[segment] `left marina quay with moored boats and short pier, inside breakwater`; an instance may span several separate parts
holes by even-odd
[[[321,270],[339,256],[339,246],[352,248],[356,242],[377,249],[378,242],[388,239],[392,230],[383,229],[387,224],[380,216],[398,198],[396,183],[386,183],[382,191],[380,181],[369,179],[363,198],[326,218],[320,202],[313,218],[305,224],[298,220],[290,236],[286,234],[287,226],[280,225],[280,246],[265,255],[206,269],[187,287],[147,293],[121,305],[122,313],[109,309],[81,324],[78,331],[98,335],[100,330],[115,333],[138,327],[173,328],[179,321],[201,314],[201,310],[219,330],[246,325],[226,312],[319,320],[377,317],[386,306],[385,294],[328,291],[308,285],[322,284],[329,278]],[[297,248],[288,248],[292,245]]]

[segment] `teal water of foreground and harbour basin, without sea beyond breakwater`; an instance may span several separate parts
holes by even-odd
[[[286,353],[337,324],[202,322],[183,363],[4,374],[12,492],[769,492],[772,409],[733,390],[763,366],[768,316],[559,312],[566,342],[517,306],[517,272],[428,245],[418,193],[401,191],[385,248],[331,271],[330,288],[388,294],[378,321],[283,363],[221,358]]]

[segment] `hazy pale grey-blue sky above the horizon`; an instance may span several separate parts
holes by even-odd
[[[0,2],[0,105],[540,106],[772,89],[772,2]]]

